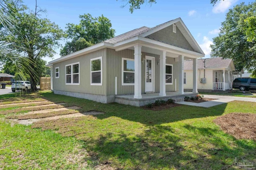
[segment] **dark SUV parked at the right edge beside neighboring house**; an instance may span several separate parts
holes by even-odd
[[[236,78],[233,81],[233,88],[240,90],[256,90],[256,78]]]

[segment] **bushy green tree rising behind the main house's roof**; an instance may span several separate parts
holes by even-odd
[[[74,23],[67,24],[66,34],[71,41],[67,42],[60,50],[61,56],[114,37],[115,30],[111,28],[110,20],[103,15],[93,18],[90,14],[84,14],[80,15],[79,18],[81,20],[78,25]]]

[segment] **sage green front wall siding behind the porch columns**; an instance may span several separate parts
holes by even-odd
[[[142,52],[142,59],[145,59],[146,56],[151,56],[155,58],[155,92],[160,91],[160,65],[159,55],[144,53]],[[117,77],[117,94],[134,94],[134,85],[122,86],[122,58],[134,59],[134,50],[126,49],[122,51],[115,51],[114,49],[106,49],[106,64],[107,64],[107,95],[115,94],[115,77]],[[166,64],[173,64],[173,84],[166,85],[166,92],[175,91],[175,78],[178,82],[178,62],[175,62],[174,58],[166,57]],[[135,68],[136,69],[136,68]],[[145,62],[141,63],[141,91],[145,92]],[[178,90],[178,86],[177,86]]]

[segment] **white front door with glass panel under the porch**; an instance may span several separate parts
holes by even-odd
[[[154,92],[155,58],[146,56],[145,92]]]

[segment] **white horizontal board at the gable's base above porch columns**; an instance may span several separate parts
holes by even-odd
[[[147,42],[147,43],[152,43],[154,45],[159,45],[159,46],[162,46],[162,47],[166,47],[166,48],[169,48],[169,49],[172,49],[172,50],[180,51],[183,55],[185,55],[187,57],[192,57],[192,58],[205,57],[204,54],[200,54],[200,53],[197,53],[197,52],[194,52],[194,51],[182,49],[182,48],[176,47],[174,45],[169,45],[169,44],[166,44],[166,43],[161,43],[161,42],[156,41],[156,40],[152,40],[152,39],[148,39],[148,38],[144,38],[144,37],[138,37],[138,40],[144,41],[144,42]],[[143,46],[143,44],[142,44],[142,46]],[[166,49],[163,49],[163,50],[168,51]],[[172,51],[171,51],[171,53],[172,53]]]

